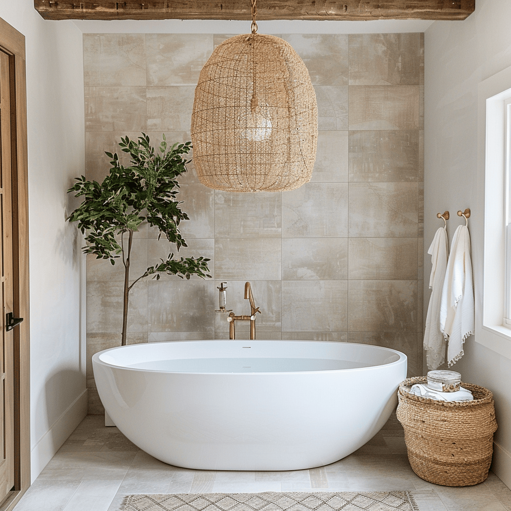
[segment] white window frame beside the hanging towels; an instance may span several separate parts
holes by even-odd
[[[507,100],[511,100],[511,67],[478,86],[478,170],[484,176],[484,255],[482,296],[478,298],[476,294],[475,340],[511,359],[511,325],[506,321],[509,312],[506,295],[511,292],[506,286]],[[511,275],[511,267],[509,272]],[[509,303],[511,307],[511,300]]]

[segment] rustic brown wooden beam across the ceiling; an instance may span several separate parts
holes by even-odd
[[[34,0],[45,19],[251,19],[250,0]],[[257,20],[465,19],[475,0],[260,0]]]

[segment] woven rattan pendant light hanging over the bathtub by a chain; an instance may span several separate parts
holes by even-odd
[[[227,39],[200,73],[192,114],[194,164],[207,187],[280,192],[310,181],[316,95],[291,45],[257,33]]]

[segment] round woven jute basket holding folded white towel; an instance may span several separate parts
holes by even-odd
[[[470,486],[486,479],[497,429],[493,394],[477,385],[461,383],[474,401],[434,401],[410,394],[409,378],[398,390],[398,420],[405,430],[408,460],[413,472],[444,486]]]

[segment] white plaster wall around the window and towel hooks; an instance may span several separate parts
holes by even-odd
[[[477,87],[511,65],[509,19],[508,0],[478,0],[476,11],[465,21],[436,21],[425,32],[425,275],[431,271],[427,249],[442,225],[436,213],[450,211],[451,240],[464,221],[456,212],[469,207],[478,307],[482,303],[484,176],[477,168]],[[425,295],[427,308],[429,290]],[[511,486],[511,360],[475,342],[474,336],[464,351],[453,369],[463,381],[494,393],[499,429],[493,470]]]

